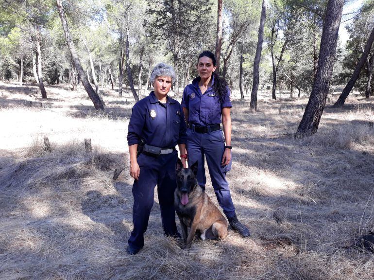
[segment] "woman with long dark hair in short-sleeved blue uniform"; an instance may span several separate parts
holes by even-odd
[[[231,169],[230,88],[216,70],[213,53],[199,55],[199,76],[183,91],[182,107],[187,123],[188,162],[198,161],[197,180],[205,190],[204,157],[208,165],[214,192],[230,226],[242,236],[250,236],[249,229],[238,221],[231,199],[226,172]],[[221,130],[221,123],[223,134]],[[226,143],[225,143],[226,141]]]

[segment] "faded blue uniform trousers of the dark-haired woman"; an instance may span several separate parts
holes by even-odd
[[[231,161],[229,165],[221,166],[224,150],[225,144],[221,130],[210,133],[198,133],[192,129],[187,129],[188,165],[190,166],[196,161],[199,162],[197,181],[203,190],[205,190],[204,156],[206,157],[209,175],[218,203],[226,217],[232,218],[235,215],[235,207],[231,198],[229,183],[226,180],[226,172],[231,169]]]

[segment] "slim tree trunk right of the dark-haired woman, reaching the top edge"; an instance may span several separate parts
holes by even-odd
[[[250,104],[250,108],[255,109],[255,110],[257,110],[257,91],[258,91],[258,83],[260,79],[260,74],[259,74],[258,69],[259,69],[260,60],[261,60],[262,41],[264,40],[265,19],[266,19],[266,4],[265,4],[265,0],[262,0],[260,27],[258,28],[257,48],[256,48],[256,54],[255,54],[255,62],[253,65],[253,86],[252,86],[252,91],[251,91],[251,104]]]

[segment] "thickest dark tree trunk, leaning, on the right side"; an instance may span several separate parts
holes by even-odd
[[[320,55],[316,81],[313,84],[309,102],[295,137],[313,135],[317,132],[321,120],[330,79],[334,69],[334,59],[338,42],[338,32],[344,0],[329,0],[323,22]]]

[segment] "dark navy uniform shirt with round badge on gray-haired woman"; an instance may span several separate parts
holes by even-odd
[[[152,91],[133,107],[127,143],[131,146],[142,138],[146,144],[161,148],[174,148],[177,144],[184,144],[187,141],[184,119],[178,101],[167,96],[167,102],[163,104]]]

